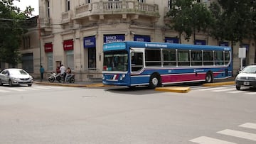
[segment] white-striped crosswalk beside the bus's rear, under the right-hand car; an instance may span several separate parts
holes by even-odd
[[[256,91],[247,91],[247,90],[237,90],[235,86],[223,86],[223,87],[194,87],[194,91],[199,92],[225,92],[228,94],[247,94],[247,95],[256,95]]]

